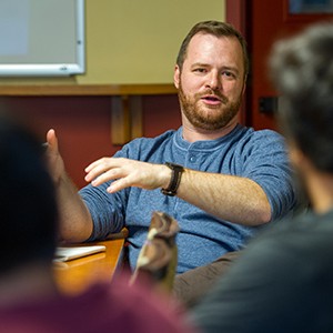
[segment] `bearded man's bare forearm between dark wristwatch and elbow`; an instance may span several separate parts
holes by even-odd
[[[185,169],[178,196],[222,220],[260,225],[271,220],[271,206],[254,181]]]

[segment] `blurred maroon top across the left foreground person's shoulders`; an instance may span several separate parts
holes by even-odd
[[[0,310],[0,332],[193,333],[183,313],[145,285],[128,279],[95,284],[77,296],[59,295]],[[195,331],[196,332],[196,331]]]

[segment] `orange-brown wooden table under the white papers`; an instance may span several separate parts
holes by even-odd
[[[68,262],[54,263],[59,289],[65,293],[75,294],[94,282],[111,281],[113,273],[123,260],[124,239],[75,245],[105,245],[107,251]]]

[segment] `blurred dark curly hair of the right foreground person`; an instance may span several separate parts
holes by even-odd
[[[276,42],[270,65],[285,135],[319,170],[333,172],[333,24]]]

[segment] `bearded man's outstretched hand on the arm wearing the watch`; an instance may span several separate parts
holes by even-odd
[[[171,179],[171,170],[167,165],[123,158],[102,158],[87,167],[85,172],[85,181],[93,186],[112,180],[109,193],[129,186],[145,190],[167,188]]]

